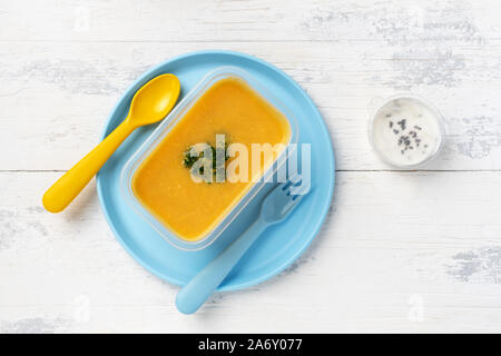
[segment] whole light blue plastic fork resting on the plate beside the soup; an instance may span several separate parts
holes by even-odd
[[[177,294],[176,306],[180,313],[198,310],[264,230],[285,219],[305,196],[303,192],[291,194],[291,188],[301,190],[299,184],[301,180],[279,184],[264,198],[257,220]]]

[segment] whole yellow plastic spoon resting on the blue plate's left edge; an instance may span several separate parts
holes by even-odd
[[[134,96],[127,118],[46,191],[43,207],[50,212],[62,211],[135,129],[167,116],[179,90],[174,75],[161,75],[144,85]]]

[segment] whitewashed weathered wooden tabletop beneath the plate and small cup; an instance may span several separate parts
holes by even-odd
[[[501,332],[501,2],[0,1],[0,332]],[[141,72],[230,49],[318,106],[337,181],[307,253],[278,277],[180,315],[178,287],[108,228],[95,184],[41,195],[98,141]],[[375,97],[411,91],[449,123],[425,170],[366,139]]]

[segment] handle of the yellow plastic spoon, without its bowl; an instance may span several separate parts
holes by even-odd
[[[43,207],[50,212],[63,210],[132,131],[134,127],[125,119],[46,191],[42,198]]]

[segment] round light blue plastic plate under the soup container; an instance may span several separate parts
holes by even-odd
[[[127,116],[134,93],[151,78],[167,72],[176,75],[183,97],[205,75],[220,66],[239,67],[259,80],[295,113],[299,144],[312,145],[312,191],[285,221],[265,231],[218,288],[235,290],[264,281],[289,266],[315,238],[327,215],[334,190],[334,154],[325,123],[304,90],[283,71],[261,59],[232,51],[191,52],[173,58],[141,76],[118,101],[101,139]],[[124,165],[156,126],[139,128],[120,146],[99,171],[97,189],[106,219],[126,250],[156,276],[183,286],[257,218],[259,202],[267,189],[262,189],[209,247],[198,251],[177,249],[125,202],[119,187]]]

